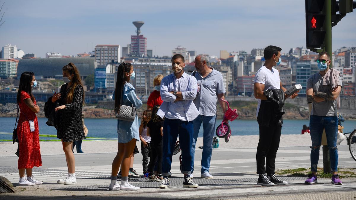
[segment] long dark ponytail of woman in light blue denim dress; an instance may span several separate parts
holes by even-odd
[[[130,73],[131,63],[121,63],[117,68],[117,79],[115,86],[115,112],[119,112],[121,106],[122,89],[126,83],[126,73]]]

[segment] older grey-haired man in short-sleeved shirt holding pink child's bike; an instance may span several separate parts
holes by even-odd
[[[203,153],[201,155],[201,178],[213,178],[209,174],[211,153],[213,152],[213,137],[215,133],[215,121],[216,121],[216,102],[217,99],[225,99],[224,93],[225,86],[223,81],[223,75],[208,66],[208,57],[203,54],[199,54],[195,60],[195,69],[192,75],[198,81],[199,91],[197,98],[194,99],[194,104],[199,110],[199,116],[193,121],[194,123],[194,138],[192,144],[192,166],[191,171],[194,170],[194,152],[195,144],[197,143],[198,134],[201,123],[203,123]],[[223,112],[226,111],[226,104],[219,101]]]

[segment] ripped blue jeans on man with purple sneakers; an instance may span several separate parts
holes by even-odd
[[[312,151],[310,152],[310,164],[312,166],[312,172],[317,171],[319,161],[319,149],[321,145],[321,136],[325,128],[326,141],[328,142],[330,153],[331,172],[337,172],[337,162],[339,159],[339,153],[336,147],[337,136],[337,116],[317,116],[310,115],[310,137],[312,138]]]

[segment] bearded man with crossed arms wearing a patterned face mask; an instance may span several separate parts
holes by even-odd
[[[172,57],[173,74],[161,81],[161,98],[163,103],[157,115],[165,117],[163,124],[163,179],[159,188],[168,188],[168,176],[171,175],[171,164],[174,146],[179,135],[182,149],[181,172],[184,174],[183,187],[197,188],[190,178],[190,164],[192,162],[193,120],[199,115],[193,100],[198,86],[197,79],[184,72],[184,57],[176,54]]]

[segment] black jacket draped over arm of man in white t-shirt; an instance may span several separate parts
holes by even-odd
[[[284,92],[282,89],[268,89],[263,92],[267,100],[261,100],[260,110],[258,111],[257,121],[262,126],[269,127],[270,124],[277,123],[283,125],[284,115]]]

